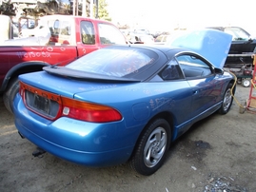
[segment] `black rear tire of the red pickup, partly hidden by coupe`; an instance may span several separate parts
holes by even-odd
[[[20,87],[19,80],[17,77],[15,77],[10,81],[6,91],[3,94],[4,104],[12,114],[13,114],[13,100],[15,95],[19,92],[19,87]]]

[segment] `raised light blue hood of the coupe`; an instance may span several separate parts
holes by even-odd
[[[223,68],[232,36],[216,29],[187,30],[175,35],[167,46],[189,48],[204,56],[214,67]]]

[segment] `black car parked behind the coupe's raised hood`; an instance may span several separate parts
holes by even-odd
[[[218,29],[232,35],[231,47],[226,58],[226,67],[242,67],[245,63],[253,63],[251,55],[256,52],[256,39],[246,29],[239,27],[208,27],[207,29]]]

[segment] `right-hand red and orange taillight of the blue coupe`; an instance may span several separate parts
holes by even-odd
[[[122,120],[122,115],[114,108],[62,98],[62,116],[93,123],[107,123]]]

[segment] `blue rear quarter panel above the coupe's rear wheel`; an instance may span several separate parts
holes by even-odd
[[[173,118],[173,139],[177,137],[178,132],[189,126],[192,91],[187,81],[137,83],[128,86],[98,85],[90,88],[93,91],[77,93],[75,98],[118,109],[124,116],[127,127],[123,132],[120,131],[120,134],[129,131],[138,137],[148,122],[162,112],[169,113]]]

